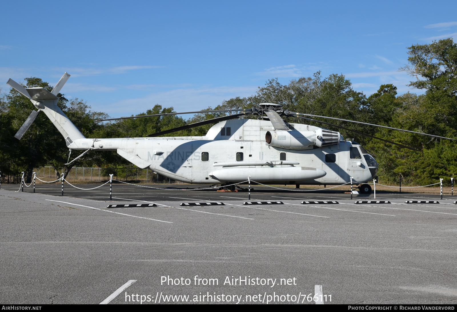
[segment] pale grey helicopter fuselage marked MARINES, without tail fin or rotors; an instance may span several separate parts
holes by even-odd
[[[288,125],[291,134],[322,130],[312,125]],[[265,184],[340,185],[351,177],[354,184],[361,184],[376,176],[374,158],[342,136],[329,146],[291,149],[268,144],[268,134],[283,139],[269,120],[236,119],[219,122],[205,136],[81,138],[67,145],[71,149],[117,151],[140,168],[149,167],[165,177],[195,184],[235,183],[249,177]]]

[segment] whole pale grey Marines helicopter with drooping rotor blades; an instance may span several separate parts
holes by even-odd
[[[57,106],[56,95],[69,77],[68,73],[64,73],[51,92],[41,87],[26,89],[12,79],[8,80],[8,85],[29,98],[38,109],[32,111],[16,133],[17,139],[21,139],[37,114],[43,111],[64,136],[70,151],[85,150],[73,161],[88,151],[107,150],[117,151],[119,155],[139,168],[149,167],[165,177],[186,183],[223,186],[250,179],[264,184],[295,184],[299,187],[300,185],[340,185],[350,182],[352,177],[352,181],[355,185],[359,185],[362,193],[370,193],[372,190],[366,183],[376,177],[378,165],[360,144],[345,140],[340,132],[313,125],[287,123],[282,116],[293,116],[350,130],[302,116],[344,119],[296,113],[283,109],[279,104],[263,103],[252,109],[207,110],[96,120],[100,122],[171,114],[238,112],[160,131],[147,137],[90,139],[85,138]],[[260,118],[239,118],[250,114]],[[344,121],[372,125],[354,120]],[[158,137],[215,122],[217,124],[213,125],[204,136]],[[373,126],[429,135],[382,125]],[[367,135],[359,131],[351,131]],[[413,149],[372,135],[367,136],[402,148]],[[429,136],[455,140],[438,135]],[[229,189],[233,190],[234,185]]]

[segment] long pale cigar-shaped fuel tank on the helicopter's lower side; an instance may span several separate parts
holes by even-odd
[[[257,182],[267,181],[304,181],[324,177],[324,170],[311,167],[258,167],[258,168],[224,168],[209,174],[221,182],[246,181],[248,176]]]

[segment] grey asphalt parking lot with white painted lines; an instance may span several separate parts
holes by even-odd
[[[355,204],[372,195],[351,200],[341,191],[255,187],[251,201],[283,204],[244,205],[246,192],[115,185],[110,202],[109,187],[65,186],[64,197],[59,185],[40,185],[37,193],[14,192],[18,187],[0,190],[2,303],[314,304],[315,294],[324,304],[457,299],[451,196],[379,193],[377,200],[391,203]],[[339,204],[301,204],[306,200]],[[180,206],[209,201],[224,205]],[[106,208],[134,203],[156,207]]]

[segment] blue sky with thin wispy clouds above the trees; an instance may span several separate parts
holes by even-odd
[[[456,1],[9,1],[0,82],[40,77],[112,117],[216,106],[320,70],[369,95],[412,44],[457,36]]]

